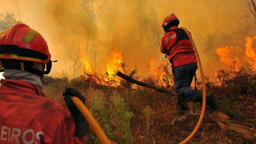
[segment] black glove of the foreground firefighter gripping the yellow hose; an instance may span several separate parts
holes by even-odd
[[[71,116],[73,117],[75,123],[75,135],[84,136],[90,134],[88,122],[70,98],[70,96],[76,96],[85,104],[85,97],[82,96],[79,91],[70,87],[66,87],[62,96],[64,96],[64,101],[68,106]]]

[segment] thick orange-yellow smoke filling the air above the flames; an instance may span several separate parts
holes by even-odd
[[[241,32],[245,32],[246,26],[255,27],[255,23],[245,17],[235,0],[84,0],[91,2],[89,9],[82,7],[81,1],[2,0],[0,12],[13,12],[16,20],[42,34],[52,60],[58,60],[53,63],[52,76],[67,72],[72,78],[77,55],[84,55],[82,58],[90,63],[92,70],[103,73],[113,50],[122,54],[128,71],[137,68],[138,75],[146,76],[152,59],[167,62],[157,43],[160,39],[157,41],[152,32],[161,38],[162,20],[172,13],[179,18],[179,26],[191,32],[204,75],[210,80],[215,79],[216,69],[229,69],[233,60],[239,59],[240,64],[247,65],[242,56],[246,36]],[[90,18],[86,17],[87,10],[93,10]],[[219,56],[221,47],[228,49],[228,54],[224,51],[225,57],[231,59],[228,63]],[[75,76],[83,74],[84,67]]]

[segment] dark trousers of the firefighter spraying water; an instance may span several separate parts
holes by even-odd
[[[174,66],[172,68],[174,89],[176,94],[178,95],[177,105],[184,105],[189,101],[202,101],[202,92],[195,91],[190,88],[197,68],[197,63],[186,64],[177,67]]]

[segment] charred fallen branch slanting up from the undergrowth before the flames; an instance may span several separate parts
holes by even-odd
[[[143,86],[143,87],[147,87],[149,89],[154,89],[154,90],[159,91],[159,92],[164,93],[164,94],[174,95],[171,91],[168,91],[168,90],[165,90],[165,89],[160,89],[160,88],[158,88],[156,86],[148,85],[145,82],[141,82],[141,81],[135,80],[133,78],[130,78],[129,76],[121,73],[121,71],[117,71],[116,75],[121,77],[121,78],[123,78],[124,80],[132,82],[133,84],[140,85],[140,86]]]

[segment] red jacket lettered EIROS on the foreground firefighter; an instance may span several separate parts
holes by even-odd
[[[0,144],[83,144],[73,118],[37,86],[1,79]]]

